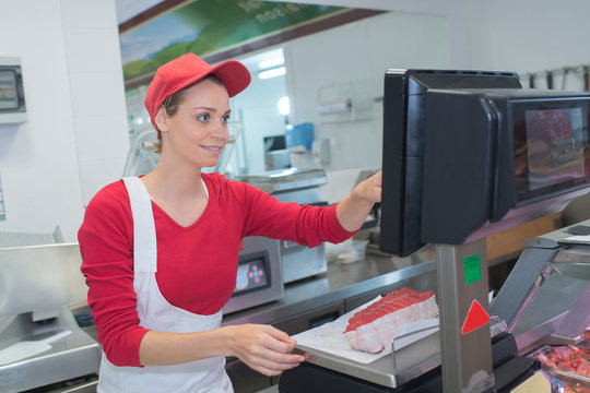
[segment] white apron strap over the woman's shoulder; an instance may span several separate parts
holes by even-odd
[[[152,199],[139,177],[125,177],[122,180],[133,215],[133,270],[135,273],[155,273],[157,246]]]

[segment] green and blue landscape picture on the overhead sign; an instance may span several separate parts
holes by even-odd
[[[126,82],[188,52],[211,56],[349,9],[255,1],[196,0],[120,35]]]

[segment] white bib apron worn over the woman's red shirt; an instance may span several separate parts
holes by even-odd
[[[138,177],[123,178],[133,214],[133,288],[143,327],[189,333],[219,327],[222,312],[200,315],[170,305],[156,283],[157,248],[150,194]],[[173,366],[118,367],[103,353],[98,393],[233,393],[225,357]]]

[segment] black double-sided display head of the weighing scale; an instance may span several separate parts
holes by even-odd
[[[389,70],[381,250],[459,245],[515,207],[588,187],[589,106],[511,72]]]

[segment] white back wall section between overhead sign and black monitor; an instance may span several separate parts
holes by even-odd
[[[382,111],[376,99],[382,96],[386,70],[449,68],[448,43],[444,16],[386,13],[285,44],[292,121],[311,121],[316,139],[330,139],[327,170],[380,167]],[[345,115],[320,117],[320,88],[347,83],[370,112],[356,121],[346,121]]]

